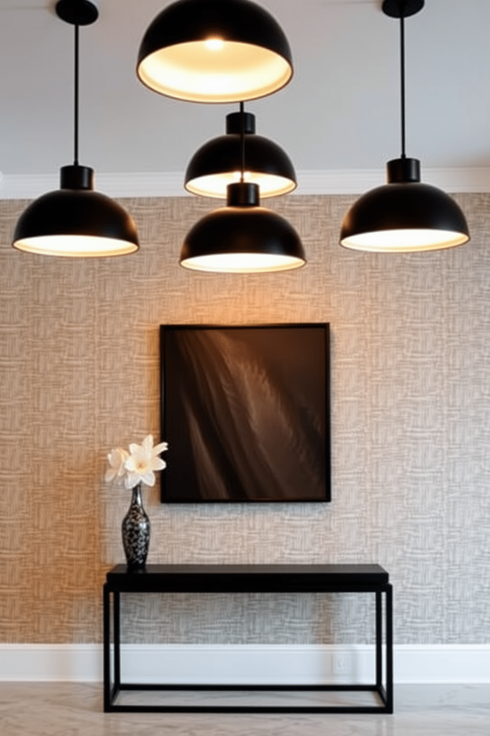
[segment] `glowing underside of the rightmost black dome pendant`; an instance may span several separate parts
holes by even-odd
[[[378,230],[360,233],[340,241],[345,248],[382,253],[410,253],[423,250],[442,250],[463,245],[469,241],[466,233],[451,230]]]

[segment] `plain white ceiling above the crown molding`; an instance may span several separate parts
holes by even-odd
[[[99,181],[184,171],[237,109],[167,99],[137,80],[140,40],[167,4],[99,0],[97,23],[80,30],[80,161]],[[383,15],[381,0],[259,4],[286,32],[295,76],[283,91],[248,103],[257,132],[310,176],[380,171],[397,158],[399,24]],[[56,178],[72,161],[73,28],[53,7],[54,0],[0,0],[0,170],[7,179]],[[490,0],[426,0],[406,21],[407,154],[422,160],[422,177],[425,169],[490,171],[489,28]]]

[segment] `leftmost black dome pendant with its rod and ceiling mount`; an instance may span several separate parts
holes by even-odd
[[[60,0],[57,15],[75,26],[75,105],[73,166],[63,166],[60,190],[36,199],[18,220],[13,246],[18,250],[70,258],[125,255],[138,250],[136,227],[117,202],[93,191],[93,169],[78,161],[79,26],[96,21],[90,0]]]

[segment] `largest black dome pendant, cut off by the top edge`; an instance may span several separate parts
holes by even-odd
[[[145,32],[137,75],[177,99],[239,102],[287,85],[292,57],[281,27],[250,0],[179,0]]]

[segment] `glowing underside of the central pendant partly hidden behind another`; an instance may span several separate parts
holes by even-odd
[[[278,197],[279,194],[287,194],[296,188],[296,184],[286,177],[278,177],[275,174],[261,174],[257,171],[245,171],[244,180],[258,184],[260,197]],[[201,197],[217,197],[226,199],[226,187],[228,184],[239,182],[239,171],[223,171],[221,174],[209,174],[205,177],[191,179],[185,185],[187,191],[198,194]]]

